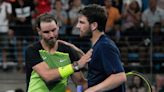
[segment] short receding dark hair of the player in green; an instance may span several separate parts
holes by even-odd
[[[37,19],[35,21],[35,27],[40,28],[41,22],[51,22],[51,21],[55,21],[55,23],[57,24],[57,21],[52,14],[50,14],[50,13],[41,14],[40,16],[37,17]]]

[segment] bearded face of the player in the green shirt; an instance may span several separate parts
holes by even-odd
[[[39,35],[49,46],[54,46],[58,37],[59,27],[54,21],[51,22],[41,22]]]

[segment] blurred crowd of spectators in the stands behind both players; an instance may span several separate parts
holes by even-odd
[[[25,46],[38,40],[34,25],[37,16],[49,12],[57,19],[61,37],[77,36],[79,31],[74,26],[78,11],[93,3],[106,9],[108,20],[104,31],[120,47],[125,65],[128,60],[149,64],[151,51],[153,60],[164,60],[164,0],[0,0],[2,69],[6,70],[7,62],[11,61],[17,62],[18,71],[24,70]],[[161,62],[155,69],[160,70],[160,66]]]

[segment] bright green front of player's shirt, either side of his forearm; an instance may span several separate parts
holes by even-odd
[[[49,68],[58,68],[70,64],[68,53],[55,52],[50,54],[45,50],[39,50],[39,53]],[[58,82],[47,84],[34,70],[32,71],[28,92],[65,92],[68,78]],[[35,86],[34,86],[35,85]]]

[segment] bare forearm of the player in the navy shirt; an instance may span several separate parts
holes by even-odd
[[[124,72],[112,74],[103,82],[88,88],[85,92],[104,92],[112,90],[126,81],[126,74]]]

